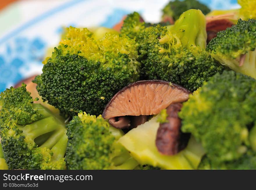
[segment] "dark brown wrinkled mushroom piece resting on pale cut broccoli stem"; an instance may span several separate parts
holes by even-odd
[[[171,104],[166,108],[168,122],[161,123],[157,130],[156,146],[160,153],[164,155],[174,155],[186,148],[190,134],[182,133],[181,120],[178,112],[182,104]]]

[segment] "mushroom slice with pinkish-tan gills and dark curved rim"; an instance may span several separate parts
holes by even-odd
[[[129,84],[106,105],[102,117],[155,115],[172,103],[184,102],[190,91],[162,80],[144,80]]]

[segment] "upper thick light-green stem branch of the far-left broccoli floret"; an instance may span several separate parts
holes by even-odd
[[[25,140],[33,144],[36,137],[54,131],[58,127],[59,123],[57,120],[53,116],[50,116],[24,127],[19,127],[19,130],[23,131]]]

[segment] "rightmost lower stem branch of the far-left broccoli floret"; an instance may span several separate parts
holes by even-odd
[[[52,147],[53,152],[52,160],[59,160],[64,157],[67,149],[67,135],[66,130],[63,130],[63,134],[58,142]]]

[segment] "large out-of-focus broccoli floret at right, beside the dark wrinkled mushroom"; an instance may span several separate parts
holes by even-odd
[[[220,165],[255,151],[256,80],[224,71],[204,82],[183,103],[182,131],[202,143],[211,162]]]

